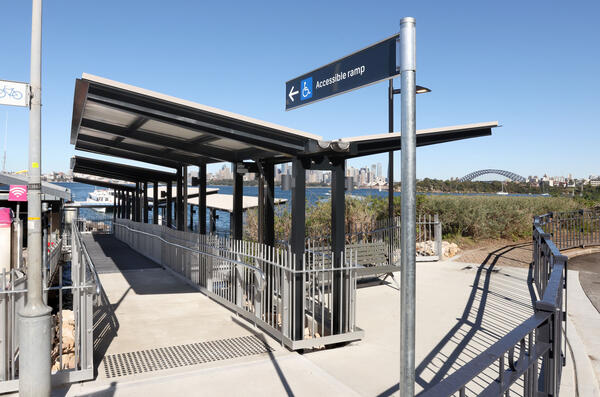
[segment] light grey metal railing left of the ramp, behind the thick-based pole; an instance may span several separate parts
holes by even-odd
[[[55,384],[92,379],[93,301],[98,293],[97,274],[80,233],[73,232],[71,285],[63,284],[63,266],[58,263],[58,286],[45,286],[44,296],[52,300],[53,349],[52,382]],[[49,256],[58,261],[61,247]],[[55,253],[56,252],[56,253]],[[18,313],[25,304],[27,277],[20,270],[0,273],[0,393],[18,390],[19,322]],[[72,328],[71,328],[72,325]],[[68,334],[71,333],[72,335]],[[67,334],[63,335],[63,332]]]

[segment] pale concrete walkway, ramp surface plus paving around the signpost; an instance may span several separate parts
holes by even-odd
[[[137,254],[111,239],[86,237],[88,249],[94,255],[104,252],[105,269],[112,269],[100,275],[107,302],[97,316],[99,375],[92,382],[55,389],[54,395],[312,397],[397,392],[400,301],[394,284],[360,286],[357,322],[366,331],[362,341],[301,355],[282,348],[170,271],[139,261]],[[527,269],[500,268],[493,260],[478,265],[417,264],[418,391],[456,371],[533,313],[527,278]],[[244,337],[257,338],[269,350],[125,376],[111,376],[101,361],[159,347]],[[470,392],[477,393],[493,378],[493,372],[483,374]],[[520,395],[519,386],[514,395]]]

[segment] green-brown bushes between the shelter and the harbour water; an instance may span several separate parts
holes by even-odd
[[[567,197],[502,197],[502,196],[417,196],[417,213],[438,214],[445,238],[472,240],[511,239],[531,236],[535,215],[547,212],[571,211],[590,206],[592,202]],[[291,228],[289,209],[278,211],[275,233],[278,239],[287,239]],[[400,197],[395,198],[394,215],[400,214]],[[364,227],[388,216],[387,199],[366,197],[363,200],[346,199],[346,222],[353,227]],[[246,238],[257,238],[257,211],[246,216]],[[318,202],[306,207],[308,236],[331,233],[331,202]]]

